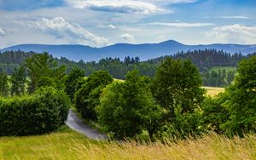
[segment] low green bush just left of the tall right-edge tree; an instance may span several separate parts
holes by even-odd
[[[224,107],[225,100],[228,99],[227,93],[218,94],[217,97],[207,97],[204,101],[202,118],[204,128],[212,130],[218,134],[223,133],[220,125],[225,123],[229,118],[229,112]]]

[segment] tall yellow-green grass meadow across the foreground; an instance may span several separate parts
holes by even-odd
[[[231,140],[210,134],[163,145],[97,142],[66,128],[55,134],[0,138],[0,159],[256,159],[256,134]]]

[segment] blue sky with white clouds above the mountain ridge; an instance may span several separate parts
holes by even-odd
[[[166,40],[256,44],[256,0],[0,0],[0,49]]]

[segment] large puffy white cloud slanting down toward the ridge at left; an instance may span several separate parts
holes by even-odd
[[[36,22],[36,30],[44,31],[55,38],[67,38],[71,43],[84,43],[91,46],[104,46],[108,44],[108,39],[98,37],[87,31],[79,24],[71,24],[64,20],[62,17],[53,19],[42,18]]]

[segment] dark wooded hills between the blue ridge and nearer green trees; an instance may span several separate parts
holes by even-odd
[[[6,51],[0,54],[0,70],[7,74],[12,74],[16,67],[22,65],[26,58],[31,57],[33,52],[22,51]],[[67,66],[67,72],[73,67],[77,66],[85,71],[85,76],[89,76],[92,72],[98,70],[109,71],[110,75],[125,79],[125,73],[133,69],[137,69],[142,75],[153,77],[157,66],[162,60],[167,57],[179,60],[191,60],[195,66],[201,71],[203,77],[203,83],[207,86],[224,87],[230,84],[236,74],[236,66],[239,61],[245,59],[247,56],[242,54],[228,54],[224,51],[218,51],[216,49],[194,50],[188,52],[178,52],[177,54],[167,55],[164,57],[141,61],[139,57],[125,57],[125,60],[118,58],[106,58],[99,61],[84,62],[80,60],[75,62],[73,60],[67,60],[67,58],[61,57],[61,59],[55,59],[59,65]],[[230,66],[232,70],[226,70],[226,66]],[[218,70],[212,70],[212,68],[218,67]]]

